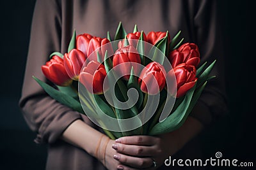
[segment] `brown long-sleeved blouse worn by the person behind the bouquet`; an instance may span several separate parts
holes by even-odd
[[[36,143],[48,143],[47,169],[104,169],[102,164],[75,146],[59,139],[74,120],[93,126],[84,115],[63,106],[45,94],[33,80],[45,80],[42,64],[55,51],[67,52],[72,32],[88,32],[93,36],[114,36],[119,21],[127,32],[134,24],[140,31],[178,31],[186,41],[196,43],[201,63],[217,59],[212,74],[217,78],[207,84],[191,113],[204,125],[220,117],[226,109],[221,34],[216,14],[216,1],[153,1],[153,0],[38,0],[36,1],[28,61],[20,108],[29,127],[37,132]],[[47,80],[45,80],[47,81]],[[195,140],[179,152],[184,157],[198,154]],[[186,153],[184,155],[183,153]],[[190,154],[190,155],[189,155]],[[170,167],[169,167],[170,168]],[[161,169],[164,169],[161,168]]]

